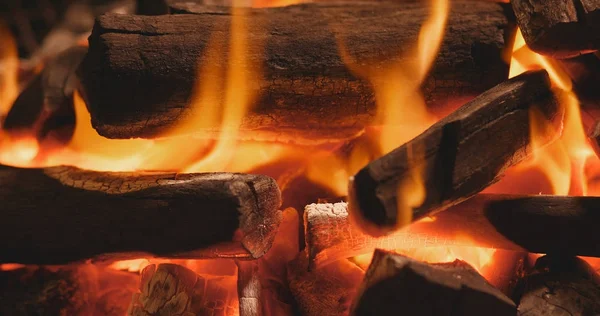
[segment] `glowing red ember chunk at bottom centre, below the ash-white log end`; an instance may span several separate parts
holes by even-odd
[[[347,315],[364,271],[346,259],[308,271],[305,251],[288,265],[290,290],[300,315]]]

